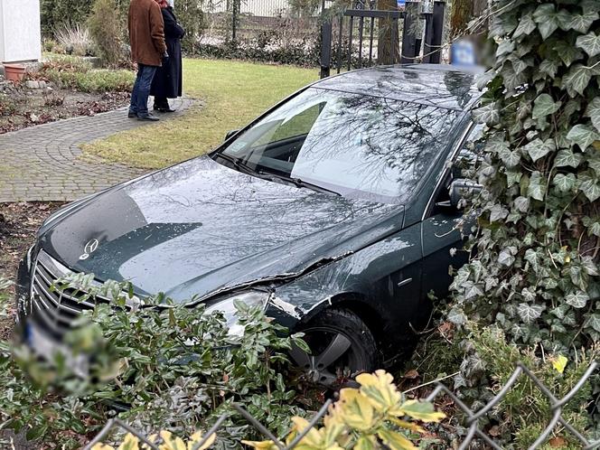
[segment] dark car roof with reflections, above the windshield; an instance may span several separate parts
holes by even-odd
[[[438,108],[468,110],[481,96],[474,86],[480,68],[404,64],[352,70],[314,83],[314,88],[389,98]]]

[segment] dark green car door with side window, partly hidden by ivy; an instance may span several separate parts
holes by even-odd
[[[458,151],[450,156],[442,183],[437,186],[422,222],[422,292],[426,295],[433,291],[437,298],[444,298],[452,283],[449,268],[459,268],[468,260],[467,252],[461,248],[463,235],[469,234],[472,223],[463,219],[463,211],[450,205],[448,188],[453,179],[473,177],[480,158],[481,145],[477,141],[482,128],[472,126]]]

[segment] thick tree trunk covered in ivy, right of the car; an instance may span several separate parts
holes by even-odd
[[[600,342],[600,2],[497,0],[483,213],[451,320],[540,355]]]

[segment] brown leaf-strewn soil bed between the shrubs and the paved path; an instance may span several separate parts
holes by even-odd
[[[126,106],[128,92],[88,94],[76,90],[27,89],[24,83],[0,81],[0,135],[62,118],[94,116]]]

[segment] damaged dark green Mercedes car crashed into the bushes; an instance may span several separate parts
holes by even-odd
[[[209,155],[71,203],[19,271],[19,322],[38,352],[89,303],[58,299],[72,272],[136,295],[220,310],[233,299],[304,330],[293,359],[333,384],[406,357],[428,293],[464,263],[456,220],[473,161],[473,73],[409,65],[348,72],[286,98]],[[454,256],[453,256],[454,255]],[[50,343],[49,343],[50,342]]]

